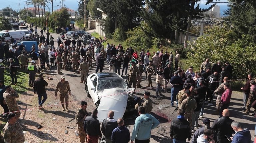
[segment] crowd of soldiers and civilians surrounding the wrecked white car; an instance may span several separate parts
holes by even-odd
[[[42,29],[43,32],[47,29]],[[15,142],[17,138],[12,139],[14,134],[10,134],[11,128],[22,130],[17,119],[20,116],[19,107],[15,98],[19,95],[12,89],[11,85],[17,84],[18,68],[20,72],[29,74],[28,85],[33,87],[34,93],[38,95],[39,109],[43,109],[43,104],[47,99],[45,86],[48,83],[44,80],[43,74],[39,74],[39,78],[35,79],[36,73],[40,69],[50,69],[57,66],[57,73],[62,74],[61,70],[72,69],[74,74],[80,73],[81,82],[85,83],[88,76],[89,68],[93,68],[93,61],[96,61],[95,72],[103,71],[104,66],[108,66],[109,72],[116,72],[121,77],[128,77],[128,86],[131,88],[152,88],[152,76],[156,76],[156,94],[155,98],[161,100],[163,93],[171,93],[170,105],[176,107],[178,116],[171,121],[170,137],[174,143],[185,143],[186,139],[190,141],[191,131],[195,131],[192,143],[249,143],[251,139],[250,131],[243,129],[237,121],[229,118],[229,105],[232,96],[230,80],[233,79],[233,67],[229,62],[222,65],[221,61],[215,64],[210,63],[207,58],[202,62],[199,71],[194,72],[194,67],[182,69],[178,63],[181,55],[176,51],[165,51],[159,47],[159,51],[152,52],[149,50],[140,52],[132,47],[126,49],[119,44],[117,46],[107,43],[106,48],[102,44],[102,40],[92,37],[91,40],[83,42],[81,38],[66,39],[64,42],[61,38],[57,38],[58,46],[55,47],[53,37],[47,31],[46,38],[40,38],[38,41],[39,52],[35,51],[35,45],[31,47],[31,51],[27,51],[24,45],[19,47],[2,44],[0,40],[0,63],[5,60],[9,64],[9,72],[12,82],[10,85],[4,85],[4,70],[0,64],[0,101],[4,108],[4,113],[9,113],[8,124],[4,128],[4,139]],[[49,42],[47,41],[49,39]],[[53,41],[53,42],[51,42]],[[88,46],[87,46],[88,44]],[[6,52],[8,51],[8,52]],[[5,59],[4,59],[5,57]],[[29,64],[31,58],[31,64]],[[173,65],[174,60],[174,65]],[[39,62],[40,61],[40,62]],[[39,64],[40,63],[40,64]],[[47,65],[47,68],[45,67]],[[121,71],[122,66],[122,71]],[[129,68],[128,68],[129,67]],[[143,74],[143,72],[145,74]],[[148,82],[146,87],[140,83],[143,76]],[[248,81],[241,88],[244,92],[244,107],[242,108],[246,114],[250,114],[250,108],[256,109],[256,83],[253,80],[254,74],[248,74]],[[169,91],[168,84],[171,89]],[[59,91],[60,101],[63,111],[68,110],[69,96],[71,90],[65,76],[56,84],[55,96]],[[204,106],[213,106],[214,96],[216,98],[216,114],[219,115],[212,126],[210,121],[203,117]],[[134,129],[130,136],[129,130],[124,126],[124,120],[114,119],[114,112],[109,111],[101,126],[97,120],[97,109],[92,113],[86,111],[87,103],[82,101],[81,108],[77,111],[75,118],[78,125],[80,142],[98,142],[98,138],[106,137],[106,142],[127,143],[135,141],[136,143],[146,143],[150,139],[151,129],[157,127],[159,121],[155,119],[150,112],[152,110],[152,100],[149,98],[150,93],[144,93],[144,102],[137,104],[135,108],[138,110],[139,116],[135,120]],[[42,99],[43,98],[43,99]],[[255,116],[255,110],[253,112]],[[204,118],[203,127],[198,123],[199,118]],[[10,126],[8,128],[8,126]],[[19,128],[20,127],[20,128]],[[200,128],[199,128],[200,127]],[[232,134],[236,134],[232,138]],[[20,133],[20,132],[17,132]],[[24,141],[24,135],[19,135],[20,141]]]

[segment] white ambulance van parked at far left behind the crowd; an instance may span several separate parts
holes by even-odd
[[[4,37],[6,41],[10,42],[11,41],[11,36],[16,40],[16,41],[20,41],[20,39],[25,35],[24,31],[21,30],[3,30],[0,31],[0,36]]]

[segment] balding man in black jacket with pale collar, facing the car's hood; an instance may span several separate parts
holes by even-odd
[[[101,126],[101,131],[103,135],[106,137],[106,143],[111,142],[112,131],[118,127],[117,121],[114,119],[114,112],[108,112],[108,118],[104,119]]]

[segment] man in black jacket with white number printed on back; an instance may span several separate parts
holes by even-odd
[[[205,80],[205,82],[208,82],[208,91],[207,91],[207,95],[205,97],[205,104],[208,104],[208,106],[213,106],[213,104],[211,103],[212,99],[213,99],[213,94],[214,91],[216,90],[217,86],[218,86],[218,72],[214,72],[212,75],[208,76],[207,79]],[[210,98],[209,103],[208,103],[208,98]]]

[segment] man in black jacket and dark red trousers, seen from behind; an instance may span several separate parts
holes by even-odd
[[[100,132],[100,122],[97,120],[98,110],[94,109],[91,116],[87,116],[84,120],[84,130],[87,134],[87,142],[97,143],[99,137],[101,137]]]

